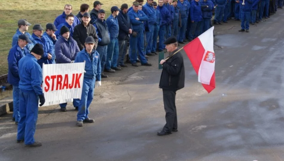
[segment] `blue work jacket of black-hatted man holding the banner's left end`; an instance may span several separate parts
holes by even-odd
[[[33,55],[28,54],[19,61],[19,76],[22,92],[42,95],[42,69]]]

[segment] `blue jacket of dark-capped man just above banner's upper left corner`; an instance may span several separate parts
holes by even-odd
[[[44,54],[42,55],[42,58],[37,61],[40,67],[42,67],[43,63],[54,64],[54,46],[51,44],[51,41],[49,41],[45,36],[42,36],[41,38],[37,37],[35,34],[32,36],[36,43],[39,43],[43,46]],[[52,55],[51,60],[48,59],[48,53]]]

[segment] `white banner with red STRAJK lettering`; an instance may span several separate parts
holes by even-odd
[[[85,62],[42,65],[43,106],[72,102],[81,99]]]

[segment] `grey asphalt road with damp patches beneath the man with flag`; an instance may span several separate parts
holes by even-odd
[[[280,10],[249,33],[238,32],[240,22],[216,26],[216,89],[210,94],[183,52],[178,132],[156,135],[165,124],[161,70],[143,68],[96,89],[93,124],[77,127],[71,104],[65,113],[55,106],[41,109],[35,138],[42,147],[17,144],[11,115],[0,118],[6,131],[0,160],[283,161],[283,16]]]

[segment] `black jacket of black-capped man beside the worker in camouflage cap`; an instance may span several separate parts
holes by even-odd
[[[118,40],[127,40],[129,39],[129,29],[132,29],[132,24],[130,23],[130,18],[123,12],[119,13],[117,16],[119,32],[118,32]]]

